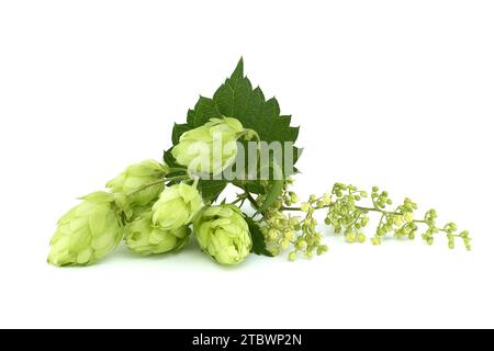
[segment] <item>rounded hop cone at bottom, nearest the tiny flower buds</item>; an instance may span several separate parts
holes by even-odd
[[[199,245],[221,264],[237,264],[252,248],[249,227],[232,205],[211,206],[194,219]]]

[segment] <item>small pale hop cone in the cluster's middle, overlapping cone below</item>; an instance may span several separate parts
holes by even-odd
[[[153,224],[164,230],[176,230],[190,224],[203,205],[195,185],[180,183],[165,188],[153,205]]]

